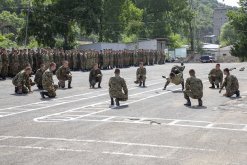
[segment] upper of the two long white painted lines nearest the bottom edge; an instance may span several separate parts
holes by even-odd
[[[182,146],[170,146],[170,145],[158,145],[158,144],[146,144],[146,143],[132,143],[132,142],[118,142],[118,141],[104,141],[104,140],[82,140],[82,139],[66,139],[66,138],[47,138],[47,137],[28,137],[28,136],[0,136],[9,139],[37,139],[37,140],[47,140],[47,141],[67,141],[67,142],[87,142],[87,143],[105,143],[105,144],[116,144],[125,146],[141,146],[141,147],[153,147],[153,148],[170,148],[170,149],[180,149],[180,150],[197,150],[197,151],[207,151],[214,152],[216,150],[207,148],[194,148],[194,147],[182,147]]]

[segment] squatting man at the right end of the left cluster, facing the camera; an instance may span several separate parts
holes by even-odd
[[[69,62],[64,61],[63,65],[56,71],[58,82],[58,87],[65,88],[65,81],[68,80],[68,88],[71,89],[72,74],[69,69]]]

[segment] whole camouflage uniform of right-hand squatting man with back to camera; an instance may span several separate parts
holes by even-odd
[[[190,97],[192,99],[201,99],[203,97],[202,81],[195,76],[191,76],[186,80],[185,89],[184,98],[186,100],[188,100]]]

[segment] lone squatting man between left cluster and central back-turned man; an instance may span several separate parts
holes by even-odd
[[[95,84],[98,83],[98,88],[101,88],[102,73],[98,64],[94,64],[93,69],[89,73],[90,88],[95,88]]]

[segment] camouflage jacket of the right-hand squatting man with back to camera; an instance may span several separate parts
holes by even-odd
[[[196,77],[191,76],[185,83],[186,91],[191,91],[195,98],[202,98],[203,96],[203,84],[202,81]]]

